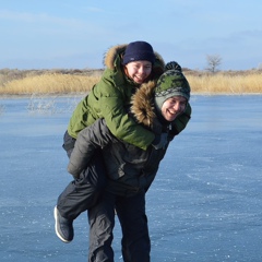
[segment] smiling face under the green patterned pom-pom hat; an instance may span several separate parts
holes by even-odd
[[[188,100],[182,96],[172,96],[166,99],[162,106],[162,115],[167,121],[174,121],[184,111]]]

